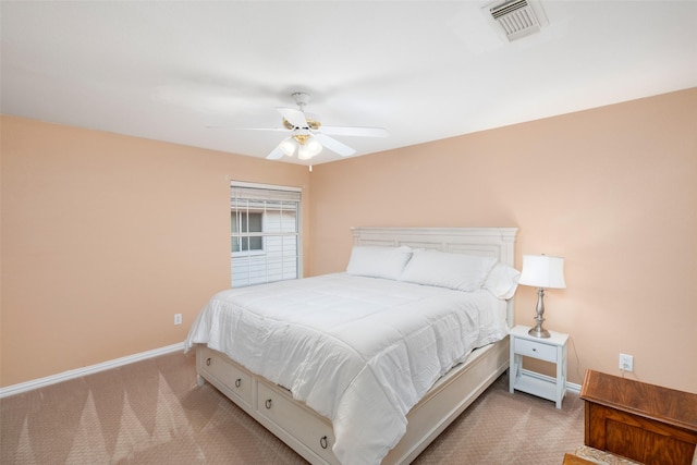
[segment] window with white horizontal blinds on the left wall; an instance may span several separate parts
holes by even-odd
[[[232,286],[297,279],[302,272],[301,189],[231,184]]]

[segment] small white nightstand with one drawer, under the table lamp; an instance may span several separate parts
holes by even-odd
[[[550,331],[549,338],[535,338],[527,331],[530,327],[516,326],[511,335],[511,369],[509,391],[527,392],[557,403],[562,407],[566,393],[566,342],[568,334]],[[557,378],[538,375],[523,369],[523,357],[537,358],[557,365]]]

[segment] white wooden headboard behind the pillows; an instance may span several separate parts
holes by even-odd
[[[406,245],[452,254],[484,255],[514,266],[517,228],[351,228],[355,245]],[[513,298],[508,301],[514,326]]]

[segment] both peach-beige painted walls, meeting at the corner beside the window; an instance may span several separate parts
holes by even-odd
[[[697,392],[697,89],[307,168],[1,120],[3,387],[181,342],[229,285],[229,179],[304,187],[305,273],[352,225],[516,225],[566,257],[547,326],[586,368]],[[310,192],[311,185],[311,192]],[[310,201],[311,197],[311,201]],[[535,290],[516,319],[531,323]],[[173,326],[181,313],[184,325]]]

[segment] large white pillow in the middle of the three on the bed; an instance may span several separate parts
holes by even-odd
[[[491,257],[415,250],[400,280],[458,291],[479,291],[496,262]]]

